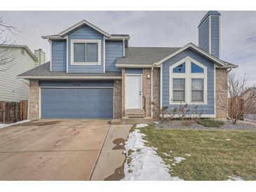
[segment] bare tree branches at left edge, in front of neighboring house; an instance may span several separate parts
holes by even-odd
[[[18,27],[8,25],[4,22],[4,19],[0,17],[0,71],[6,71],[13,65],[13,60],[15,59],[11,52],[13,51],[13,45],[15,41],[4,37],[5,33],[19,34],[20,31]]]

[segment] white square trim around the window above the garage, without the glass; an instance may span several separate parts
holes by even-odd
[[[98,39],[72,39],[71,43],[71,63],[72,65],[101,65],[101,40]],[[97,62],[74,62],[74,43],[97,43]]]

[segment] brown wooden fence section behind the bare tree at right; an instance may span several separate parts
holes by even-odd
[[[243,120],[244,100],[241,98],[229,98],[229,117],[235,118],[236,114],[239,114],[240,120]]]

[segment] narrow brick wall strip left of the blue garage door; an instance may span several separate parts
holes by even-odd
[[[30,80],[29,84],[29,119],[39,118],[39,80]]]

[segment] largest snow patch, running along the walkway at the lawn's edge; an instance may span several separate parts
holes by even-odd
[[[147,124],[139,124],[141,127]],[[156,153],[156,148],[145,146],[143,139],[145,135],[140,130],[130,132],[126,141],[125,151],[126,163],[124,164],[125,177],[122,180],[126,181],[176,181],[182,180],[179,177],[171,177],[168,167],[163,162],[161,157]],[[140,152],[138,152],[139,150]],[[128,151],[133,151],[128,154]],[[130,155],[130,156],[128,156]]]

